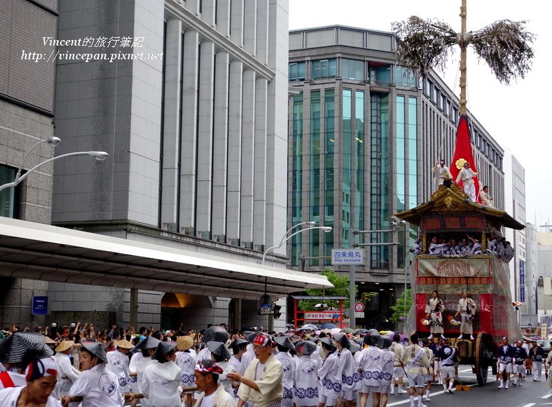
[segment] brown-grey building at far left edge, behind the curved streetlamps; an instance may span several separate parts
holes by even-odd
[[[0,185],[14,181],[23,157],[37,142],[52,137],[55,64],[37,63],[49,50],[42,37],[55,37],[57,1],[7,1],[0,17]],[[41,143],[28,154],[23,170],[50,159],[53,149]],[[90,163],[83,163],[87,166]],[[52,164],[46,164],[25,183],[0,191],[0,216],[50,223]],[[42,325],[33,315],[33,296],[44,296],[48,283],[2,275],[0,327]]]

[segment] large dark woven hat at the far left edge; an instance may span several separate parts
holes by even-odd
[[[0,361],[3,363],[16,364],[21,362],[26,350],[39,350],[39,359],[52,356],[54,351],[46,345],[44,335],[39,332],[15,332],[0,341]]]

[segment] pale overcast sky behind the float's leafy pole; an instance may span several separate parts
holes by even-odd
[[[417,15],[440,19],[460,31],[460,0],[289,0],[289,28],[340,24],[391,31],[393,21]],[[337,6],[337,7],[336,7]],[[549,3],[542,0],[468,0],[467,30],[476,31],[500,19],[527,21],[537,36],[533,43],[533,68],[525,79],[509,86],[495,79],[489,66],[468,52],[468,109],[491,136],[525,168],[526,221],[552,224],[552,19]],[[458,59],[440,73],[460,96]],[[449,157],[452,158],[452,157]],[[428,169],[429,171],[429,169]],[[491,191],[492,195],[492,191]]]

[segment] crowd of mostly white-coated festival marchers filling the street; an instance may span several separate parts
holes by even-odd
[[[413,334],[408,342],[374,329],[230,335],[224,326],[138,333],[112,327],[102,341],[98,332],[81,340],[75,327],[55,330],[54,338],[53,332],[6,331],[0,406],[366,407],[371,397],[371,406],[384,407],[396,391],[408,394],[411,407],[424,407],[435,381],[445,393],[455,391],[457,350],[444,337]],[[511,346],[504,338],[498,348],[499,388],[509,388],[511,374],[511,385],[520,386],[531,372],[527,361],[540,381],[540,346]],[[551,362],[552,353],[546,368]]]

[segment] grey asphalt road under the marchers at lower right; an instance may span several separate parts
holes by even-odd
[[[433,384],[431,389],[431,401],[424,404],[428,407],[533,407],[552,406],[552,394],[546,379],[544,379],[544,368],[542,381],[533,381],[532,375],[527,375],[522,381],[522,386],[511,386],[509,389],[499,389],[495,377],[489,369],[489,377],[486,386],[477,385],[475,374],[471,373],[471,366],[460,365],[458,370],[460,380],[464,386],[470,386],[471,391],[455,391],[454,394],[444,393],[443,386]],[[408,407],[410,399],[408,395],[389,395],[387,406]],[[368,406],[370,404],[368,403]],[[415,398],[417,406],[417,398]]]

